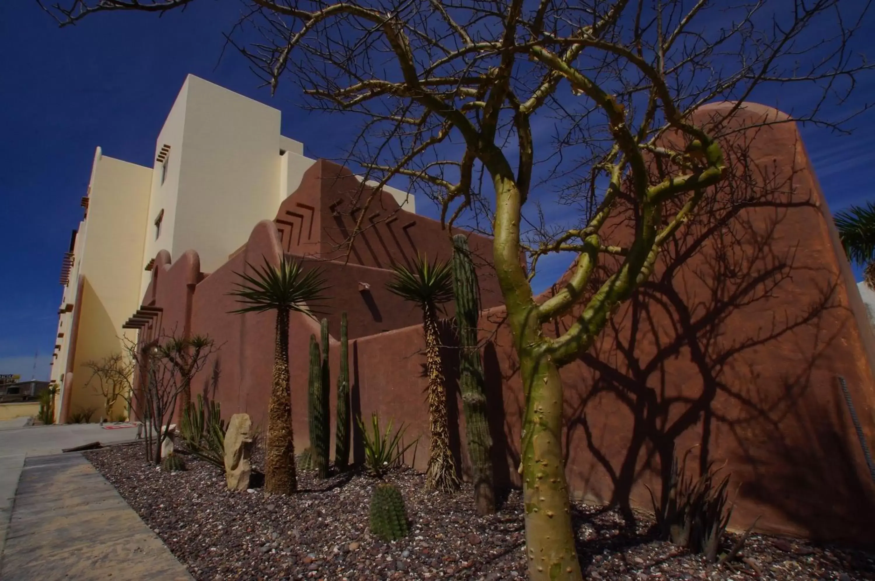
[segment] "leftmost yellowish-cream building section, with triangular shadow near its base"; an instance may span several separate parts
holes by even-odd
[[[86,387],[90,372],[82,363],[122,349],[122,325],[140,293],[150,180],[151,169],[103,156],[97,148],[88,196],[82,198],[85,216],[73,232],[61,275],[50,377],[60,388],[56,421],[71,411],[103,408],[102,396]],[[116,413],[121,412],[120,406]]]

